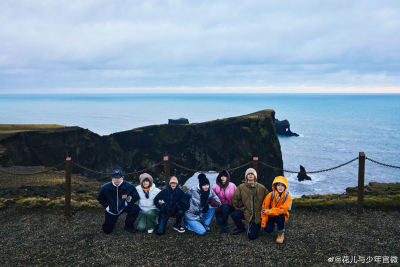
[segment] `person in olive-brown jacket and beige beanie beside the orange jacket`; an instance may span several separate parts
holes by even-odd
[[[232,212],[231,217],[236,225],[231,234],[237,235],[246,232],[246,228],[242,219],[249,223],[247,229],[247,236],[250,239],[256,239],[258,230],[261,228],[261,205],[268,194],[268,190],[262,185],[257,183],[257,172],[253,168],[246,170],[246,181],[238,186],[235,193],[233,193],[232,202],[235,211]],[[243,206],[239,206],[239,201]]]

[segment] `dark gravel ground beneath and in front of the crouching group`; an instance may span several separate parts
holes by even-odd
[[[335,264],[335,256],[400,257],[398,211],[291,211],[285,242],[277,233],[259,232],[257,240],[244,234],[211,232],[180,234],[169,221],[164,236],[131,234],[121,216],[114,232],[101,231],[103,211],[77,211],[71,220],[62,212],[10,208],[0,211],[1,266],[362,266]],[[229,230],[233,222],[229,222]],[[400,260],[398,260],[400,262]],[[380,263],[391,266],[393,264]],[[394,264],[397,265],[397,264]]]

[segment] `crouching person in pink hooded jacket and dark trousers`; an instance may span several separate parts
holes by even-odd
[[[212,187],[212,190],[217,194],[222,203],[215,210],[217,223],[221,225],[219,229],[220,233],[226,233],[229,215],[235,210],[232,204],[232,196],[236,190],[236,185],[231,183],[230,180],[231,176],[229,172],[223,170],[218,174],[216,184]],[[210,203],[212,202],[213,200],[210,201]]]

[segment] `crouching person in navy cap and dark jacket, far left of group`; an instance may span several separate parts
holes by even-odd
[[[99,203],[106,209],[103,231],[109,234],[114,229],[119,215],[126,212],[124,229],[136,233],[134,223],[139,215],[140,208],[133,204],[139,200],[136,188],[129,182],[124,181],[121,170],[114,170],[111,182],[103,185],[97,196]]]

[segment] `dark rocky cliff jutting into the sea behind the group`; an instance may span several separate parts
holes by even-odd
[[[108,136],[79,127],[62,130],[21,132],[0,140],[2,166],[54,166],[68,156],[87,168],[111,172],[121,168],[134,172],[169,156],[170,161],[195,170],[221,170],[240,166],[259,157],[282,168],[282,154],[274,127],[275,112],[262,110],[245,116],[190,125],[153,125]],[[193,172],[171,166],[183,184]],[[232,174],[239,184],[245,168]],[[163,180],[163,166],[148,171]],[[96,177],[73,167],[74,173]],[[268,187],[281,172],[260,165],[259,181]]]

